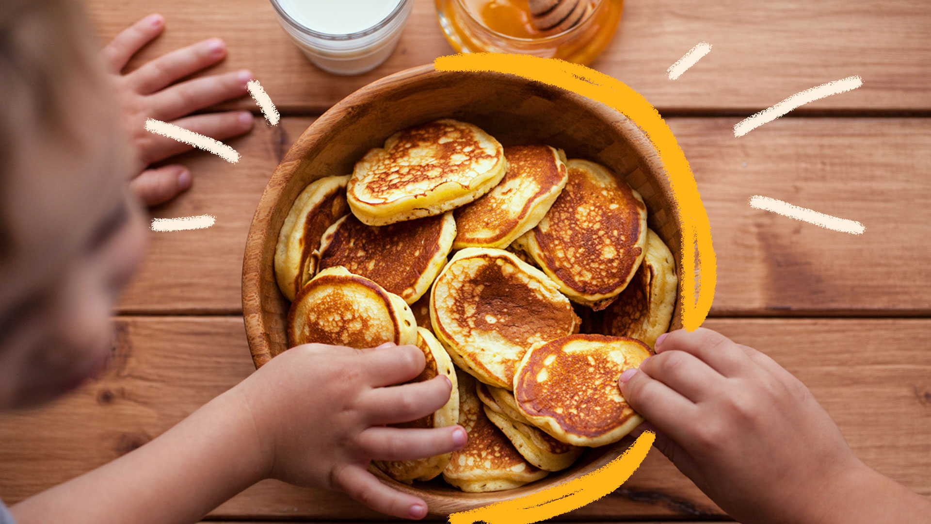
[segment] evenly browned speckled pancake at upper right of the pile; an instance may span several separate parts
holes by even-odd
[[[519,247],[560,291],[603,309],[624,291],[646,251],[646,205],[614,172],[573,159],[569,182]]]

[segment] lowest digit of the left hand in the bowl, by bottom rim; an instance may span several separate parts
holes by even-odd
[[[420,519],[426,516],[424,501],[388,488],[361,466],[344,466],[334,471],[332,478],[337,490],[344,491],[375,511],[400,518]]]

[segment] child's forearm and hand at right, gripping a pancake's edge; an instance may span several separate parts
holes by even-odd
[[[854,456],[802,382],[714,331],[660,337],[621,390],[656,447],[741,522],[931,518],[931,503]]]

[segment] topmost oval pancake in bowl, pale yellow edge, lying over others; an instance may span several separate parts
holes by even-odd
[[[356,163],[346,187],[353,214],[385,226],[478,199],[505,175],[504,147],[478,127],[443,119],[398,131]]]

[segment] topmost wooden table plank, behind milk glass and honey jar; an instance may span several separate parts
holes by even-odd
[[[433,62],[452,48],[434,3],[415,0],[398,48],[361,76],[334,76],[311,65],[280,29],[268,2],[114,2],[89,0],[91,19],[109,39],[160,11],[167,32],[142,59],[210,36],[229,44],[220,70],[248,67],[286,112],[322,112],[372,80]],[[923,0],[627,0],[614,41],[592,64],[662,110],[751,113],[816,85],[859,75],[863,87],[813,103],[815,109],[931,108],[931,11]],[[713,50],[675,81],[667,68],[698,42]],[[138,63],[138,62],[137,62]],[[253,106],[246,98],[239,103]]]

